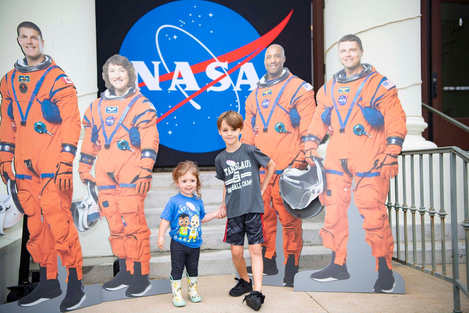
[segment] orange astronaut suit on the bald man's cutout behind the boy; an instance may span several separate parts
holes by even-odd
[[[289,214],[283,206],[279,178],[293,159],[304,161],[304,141],[301,138],[306,137],[316,103],[313,87],[291,74],[287,68],[275,81],[265,83],[266,79],[267,74],[246,99],[246,119],[241,142],[257,146],[277,165],[263,197],[264,227],[267,233],[267,242],[263,244],[266,246],[265,258],[272,259],[275,253],[278,213],[283,226],[285,262],[289,254],[294,254],[297,266],[303,247],[301,219]],[[260,174],[262,183],[265,170],[261,170]]]

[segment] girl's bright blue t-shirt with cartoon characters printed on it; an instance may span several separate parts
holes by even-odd
[[[169,198],[160,217],[170,221],[171,239],[191,248],[202,245],[201,221],[204,219],[204,202],[196,196],[189,198],[181,193]]]

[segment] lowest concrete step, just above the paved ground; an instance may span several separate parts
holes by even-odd
[[[425,244],[427,267],[431,267],[431,246]],[[403,249],[403,245],[401,245]],[[397,246],[394,246],[396,256]],[[465,254],[464,241],[459,242],[459,252]],[[422,264],[422,245],[417,244],[416,264]],[[248,249],[244,250],[246,264],[250,265]],[[303,246],[299,267],[300,270],[320,269],[329,264],[331,251],[322,245]],[[402,256],[403,258],[403,256]],[[458,258],[459,263],[464,263],[466,257]],[[85,283],[102,283],[113,277],[113,262],[115,257],[83,258],[83,281]],[[436,264],[441,264],[441,248],[436,249]],[[446,264],[451,264],[451,243],[446,245]],[[409,252],[410,263],[413,263],[412,252]],[[30,263],[30,272],[37,271],[38,264]],[[230,250],[203,251],[199,259],[200,275],[226,275],[234,274],[236,270],[231,260]],[[168,252],[152,253],[150,260],[150,277],[153,279],[167,278],[171,272],[171,255]]]

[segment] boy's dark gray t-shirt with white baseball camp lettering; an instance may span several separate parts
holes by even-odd
[[[270,158],[253,145],[241,144],[235,152],[217,155],[215,170],[225,182],[227,218],[246,213],[264,213],[259,168],[267,167]]]

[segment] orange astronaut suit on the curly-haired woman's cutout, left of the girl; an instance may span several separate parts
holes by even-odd
[[[109,242],[113,253],[126,259],[131,274],[134,261],[141,262],[142,275],[150,274],[150,229],[144,214],[148,188],[137,193],[136,187],[142,180],[149,186],[151,180],[159,145],[156,119],[153,104],[134,88],[121,97],[103,92],[83,117],[78,172],[83,180],[93,180],[83,173],[98,157],[96,184],[99,206],[111,230]]]

